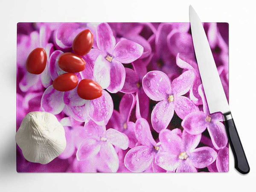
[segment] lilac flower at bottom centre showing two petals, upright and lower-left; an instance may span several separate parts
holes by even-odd
[[[125,155],[125,166],[131,172],[144,172],[152,166],[160,146],[153,139],[146,119],[137,119],[135,136],[141,145],[127,152]]]

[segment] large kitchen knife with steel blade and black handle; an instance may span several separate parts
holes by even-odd
[[[230,112],[230,107],[221,84],[221,79],[218,75],[207,36],[204,32],[204,27],[192,6],[189,6],[189,19],[195,56],[209,111],[210,113],[223,113],[227,137],[235,159],[235,168],[240,173],[247,174],[250,172],[250,167]]]

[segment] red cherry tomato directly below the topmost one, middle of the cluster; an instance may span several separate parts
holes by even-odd
[[[61,54],[58,59],[58,66],[69,73],[78,73],[85,68],[85,61],[79,55],[72,52]]]

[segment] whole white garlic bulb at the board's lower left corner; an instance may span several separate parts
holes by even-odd
[[[34,111],[21,122],[15,140],[26,160],[47,164],[66,148],[63,126],[51,113]]]

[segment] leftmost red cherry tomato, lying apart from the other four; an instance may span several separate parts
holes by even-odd
[[[32,74],[40,74],[44,71],[47,54],[43,48],[35,48],[26,60],[26,70]]]

